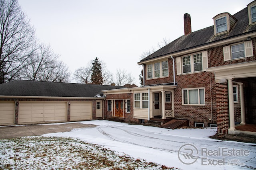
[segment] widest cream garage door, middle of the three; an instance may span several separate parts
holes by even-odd
[[[64,121],[66,102],[20,102],[19,123]]]

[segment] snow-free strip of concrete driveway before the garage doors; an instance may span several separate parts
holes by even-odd
[[[0,127],[0,139],[9,139],[15,137],[26,137],[43,135],[46,133],[68,132],[76,128],[95,127],[96,125],[88,125],[82,123],[65,123],[65,124],[40,124],[40,125],[18,125]]]

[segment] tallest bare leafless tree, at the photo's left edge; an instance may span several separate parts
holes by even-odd
[[[36,48],[34,32],[18,0],[0,0],[0,84],[20,78]]]

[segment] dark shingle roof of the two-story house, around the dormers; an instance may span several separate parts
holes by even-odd
[[[188,35],[183,35],[172,41],[168,45],[162,47],[158,51],[152,53],[141,61],[150,60],[156,57],[161,57],[167,54],[186,51],[195,47],[200,47],[210,43],[230,39],[243,34],[248,34],[256,31],[256,24],[249,25],[247,7],[233,15],[237,19],[231,31],[221,35],[214,35],[214,26],[210,26],[198,31],[194,31]]]

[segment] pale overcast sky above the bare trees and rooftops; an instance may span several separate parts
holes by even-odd
[[[208,2],[208,4],[207,4]],[[252,0],[19,0],[40,41],[50,43],[71,72],[98,57],[113,74],[131,72],[137,86],[140,55],[165,37],[213,25],[222,12],[235,14]],[[75,82],[75,81],[74,81]]]

